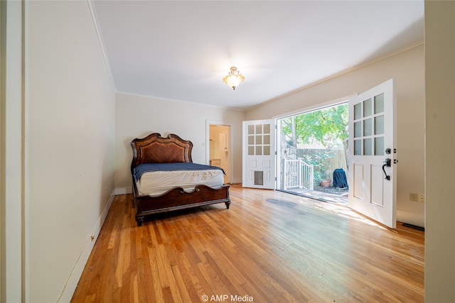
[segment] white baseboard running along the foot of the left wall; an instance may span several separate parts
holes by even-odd
[[[76,290],[77,283],[79,283],[80,276],[85,268],[85,264],[87,263],[88,258],[90,257],[90,253],[92,253],[93,246],[95,246],[95,242],[100,235],[102,224],[105,223],[105,219],[107,216],[107,212],[111,208],[112,202],[114,201],[116,189],[112,192],[111,197],[107,201],[105,208],[103,209],[100,218],[98,219],[95,226],[92,228],[92,232],[87,235],[87,242],[85,242],[85,246],[82,249],[82,252],[77,258],[76,264],[73,267],[73,270],[70,273],[70,277],[65,283],[65,287],[63,288],[62,294],[58,298],[58,302],[70,302],[71,298],[73,298],[73,294]],[[95,238],[92,240],[91,236],[94,235]]]

